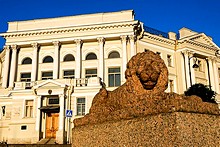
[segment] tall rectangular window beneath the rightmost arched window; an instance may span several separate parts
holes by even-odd
[[[117,87],[121,85],[121,72],[120,68],[108,69],[108,86]]]

